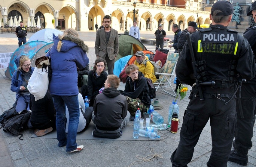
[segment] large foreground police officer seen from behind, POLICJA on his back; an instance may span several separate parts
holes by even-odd
[[[209,119],[212,154],[207,166],[227,166],[236,122],[236,76],[239,74],[250,80],[255,75],[254,55],[248,41],[236,31],[227,29],[232,14],[230,2],[217,1],[211,9],[210,28],[191,34],[191,51],[197,61],[194,66],[197,66],[199,74],[195,76],[197,85],[193,86],[184,113],[178,148],[171,156],[172,166],[190,163],[194,147]],[[195,79],[190,77],[193,71],[191,62],[187,41],[176,65],[176,75],[182,83],[193,85]],[[207,82],[213,84],[202,85]]]

